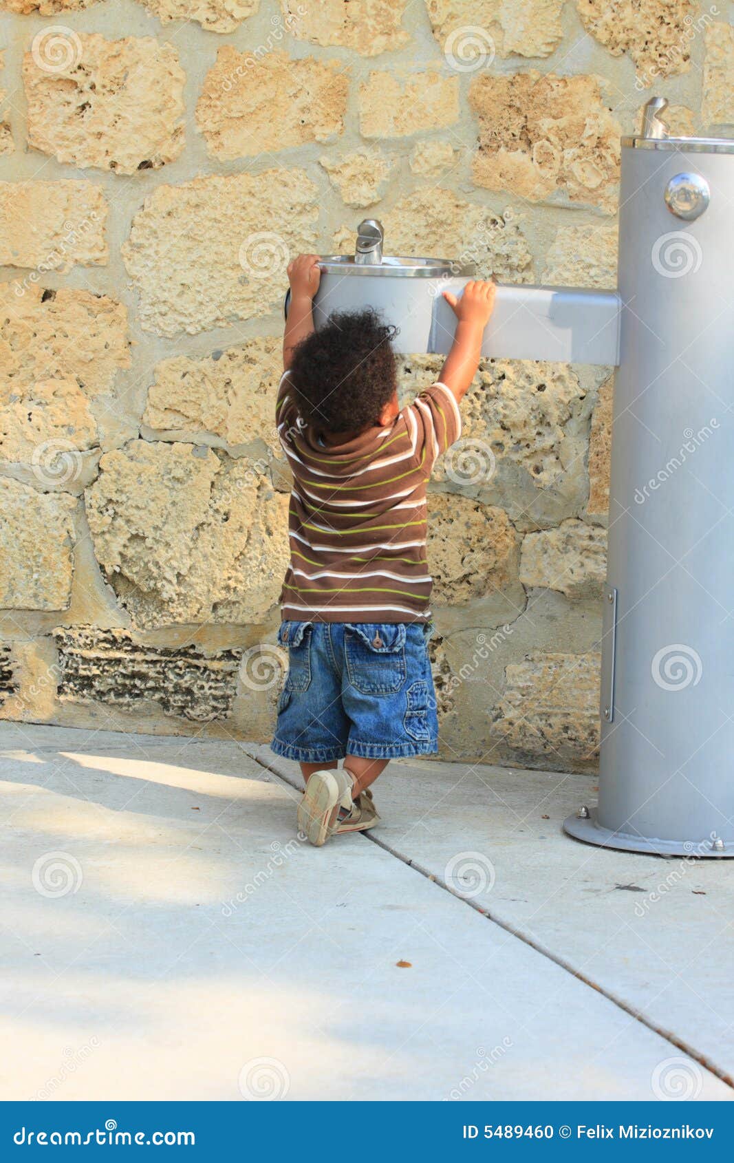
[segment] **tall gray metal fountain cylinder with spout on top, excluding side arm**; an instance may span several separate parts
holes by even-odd
[[[599,805],[564,827],[734,856],[734,142],[646,133],[622,141]]]

